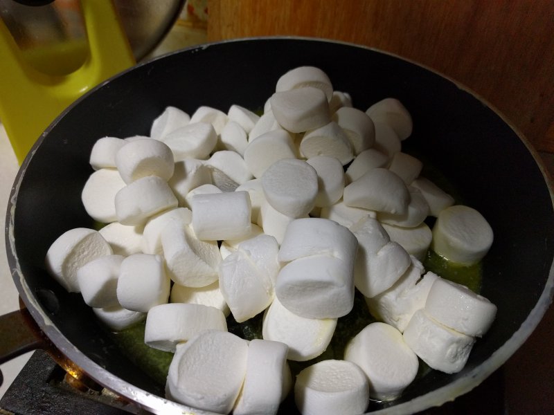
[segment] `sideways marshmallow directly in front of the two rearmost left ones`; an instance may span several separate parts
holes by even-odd
[[[206,158],[217,144],[217,132],[209,122],[193,122],[171,131],[164,138],[175,161],[186,158]]]

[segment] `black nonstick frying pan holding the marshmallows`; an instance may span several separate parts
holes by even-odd
[[[402,101],[413,117],[404,151],[425,155],[494,230],[481,294],[497,305],[497,319],[465,368],[431,371],[392,405],[371,409],[417,412],[470,391],[517,350],[551,302],[554,214],[545,169],[528,142],[463,86],[399,57],[321,39],[239,39],[181,50],[111,78],[57,118],[17,174],[6,221],[8,263],[40,329],[93,380],[139,407],[184,411],[161,397],[163,385],[118,349],[80,295],[64,291],[44,268],[60,234],[93,227],[80,200],[91,147],[103,136],[148,135],[168,105],[188,113],[200,105],[259,109],[278,77],[302,65],[322,68],[359,109],[386,97]]]

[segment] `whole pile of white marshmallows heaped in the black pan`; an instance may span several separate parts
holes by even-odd
[[[496,314],[425,273],[429,248],[476,263],[492,230],[419,176],[401,151],[411,129],[398,100],[355,109],[312,66],[280,77],[262,116],[168,107],[150,137],[93,146],[82,202],[107,225],[62,234],[48,270],[115,331],[146,318],[146,344],[175,352],[168,398],[235,415],[277,412],[293,387],[287,360],[325,351],[357,288],[379,322],[344,360],[301,371],[294,396],[303,414],[364,412],[402,393],[418,357],[460,371]],[[263,339],[227,331],[229,313],[262,312]]]

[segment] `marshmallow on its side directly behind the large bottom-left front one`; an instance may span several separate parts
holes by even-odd
[[[200,304],[160,304],[148,311],[144,342],[154,349],[174,353],[178,343],[204,330],[227,331],[221,310]]]

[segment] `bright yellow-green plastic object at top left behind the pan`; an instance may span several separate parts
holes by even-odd
[[[71,102],[136,63],[111,0],[80,0],[80,7],[87,41],[64,46],[81,52],[88,46],[87,58],[80,67],[65,73],[64,68],[71,62],[54,59],[56,54],[51,50],[35,51],[34,59],[45,62],[51,59],[46,62],[48,66],[59,67],[56,72],[63,75],[35,69],[0,19],[0,121],[6,127],[19,163],[46,127]]]

